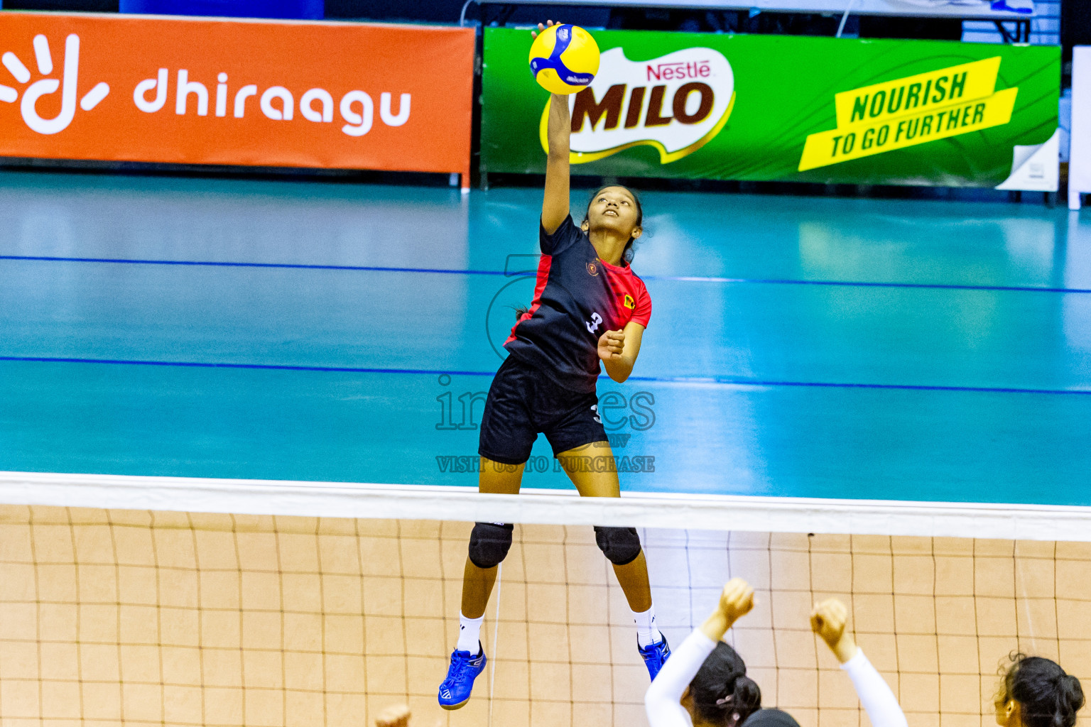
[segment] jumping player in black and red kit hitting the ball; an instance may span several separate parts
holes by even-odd
[[[538,434],[543,433],[580,495],[621,494],[598,412],[596,384],[600,361],[613,380],[628,378],[651,316],[648,291],[628,265],[633,243],[642,233],[643,214],[633,192],[611,185],[592,195],[579,226],[573,222],[568,211],[571,133],[568,98],[554,95],[539,230],[542,256],[533,302],[504,342],[508,356],[493,378],[481,417],[478,489],[482,493],[518,493],[524,464]],[[444,708],[463,706],[484,669],[481,622],[496,567],[512,545],[512,529],[507,523],[473,525],[463,578],[458,644],[440,684]],[[596,526],[595,542],[613,564],[635,616],[637,647],[655,678],[670,649],[656,627],[636,529]],[[564,608],[562,604],[556,607]]]

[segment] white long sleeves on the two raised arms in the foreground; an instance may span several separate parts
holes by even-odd
[[[716,642],[696,629],[671,653],[644,696],[651,727],[693,727],[690,713],[681,704],[682,694],[714,649]],[[872,727],[909,727],[898,699],[863,651],[858,649],[841,668],[849,673]]]

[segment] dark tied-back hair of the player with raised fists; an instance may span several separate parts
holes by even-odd
[[[723,727],[741,725],[762,708],[762,690],[746,676],[746,664],[722,641],[690,682],[694,711],[703,722]]]

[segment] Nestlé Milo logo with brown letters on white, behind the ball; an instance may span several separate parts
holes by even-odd
[[[728,59],[711,48],[686,48],[650,61],[631,61],[622,48],[612,48],[602,53],[591,85],[570,96],[568,104],[573,163],[637,145],[657,148],[660,162],[669,163],[699,149],[727,123],[734,75]],[[548,148],[547,121],[543,112],[542,148]]]

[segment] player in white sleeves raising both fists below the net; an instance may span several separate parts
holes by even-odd
[[[743,723],[746,727],[799,727],[786,712],[760,708],[762,692],[745,676],[745,664],[720,641],[753,607],[754,589],[745,581],[736,578],[723,586],[716,610],[682,642],[648,688],[644,704],[651,727],[738,727]],[[811,615],[811,628],[849,673],[872,727],[907,727],[894,692],[846,632],[846,616],[840,602],[823,602]]]

